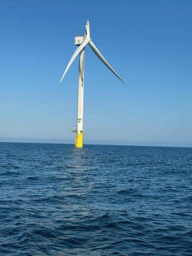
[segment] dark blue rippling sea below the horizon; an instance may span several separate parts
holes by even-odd
[[[1,256],[192,256],[192,148],[0,143]]]

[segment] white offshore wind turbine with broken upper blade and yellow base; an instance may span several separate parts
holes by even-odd
[[[87,20],[85,26],[85,34],[84,36],[76,36],[75,44],[78,46],[74,54],[72,55],[66,70],[63,73],[63,76],[60,80],[62,82],[67,70],[71,66],[72,62],[79,54],[79,82],[78,82],[78,101],[77,101],[77,126],[76,129],[71,132],[76,132],[75,136],[75,147],[82,148],[83,146],[83,105],[84,105],[84,60],[85,60],[85,46],[89,44],[93,52],[96,56],[116,75],[120,80],[121,78],[115,72],[115,70],[110,66],[110,64],[106,61],[106,59],[102,56],[99,50],[96,48],[92,40],[90,39],[90,29],[89,29],[89,21]],[[123,82],[123,80],[121,80]],[[124,83],[124,82],[123,82]]]

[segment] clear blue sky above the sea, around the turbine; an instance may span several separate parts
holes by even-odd
[[[0,141],[73,143],[86,47],[84,143],[192,146],[192,1],[2,1]]]

